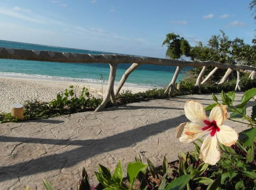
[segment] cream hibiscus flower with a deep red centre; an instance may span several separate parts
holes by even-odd
[[[234,129],[222,123],[227,119],[227,107],[215,106],[209,118],[205,109],[198,101],[186,102],[185,116],[192,122],[181,123],[177,128],[176,137],[181,142],[192,142],[206,136],[200,150],[200,156],[204,162],[214,165],[221,158],[221,150],[218,142],[225,146],[235,144],[238,134]]]

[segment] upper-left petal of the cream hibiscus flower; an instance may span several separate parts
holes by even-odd
[[[186,117],[193,123],[204,125],[203,121],[208,120],[206,111],[198,101],[189,100],[184,106]]]

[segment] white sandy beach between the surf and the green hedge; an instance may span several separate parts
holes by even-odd
[[[92,96],[104,96],[107,82],[93,83],[81,81],[50,81],[42,79],[12,78],[0,76],[0,112],[10,112],[14,103],[23,104],[26,100],[51,101],[58,93],[64,92],[70,85],[79,94],[83,87],[87,87]],[[122,90],[132,93],[143,92],[148,88],[124,85]]]

